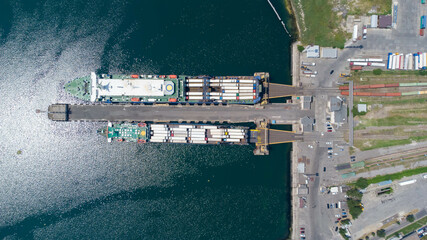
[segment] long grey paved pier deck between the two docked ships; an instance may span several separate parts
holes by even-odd
[[[253,106],[143,106],[143,105],[70,105],[69,120],[78,121],[226,121],[254,122],[261,119],[291,124],[304,116],[313,117],[300,104],[276,103]]]

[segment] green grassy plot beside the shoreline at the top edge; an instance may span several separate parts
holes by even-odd
[[[332,10],[330,0],[291,1],[295,6],[302,43],[344,48],[350,34],[340,28],[342,19]]]

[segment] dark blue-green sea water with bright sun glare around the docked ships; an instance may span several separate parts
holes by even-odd
[[[290,145],[107,143],[36,109],[91,71],[289,83],[289,48],[262,0],[1,0],[0,238],[286,238]]]

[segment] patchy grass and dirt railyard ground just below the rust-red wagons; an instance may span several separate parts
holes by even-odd
[[[360,150],[410,144],[427,139],[427,97],[355,97],[368,113],[355,117],[355,146]]]

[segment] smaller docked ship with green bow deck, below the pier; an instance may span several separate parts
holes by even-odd
[[[98,133],[108,142],[237,144],[251,142],[249,127],[207,124],[145,124],[111,122]]]

